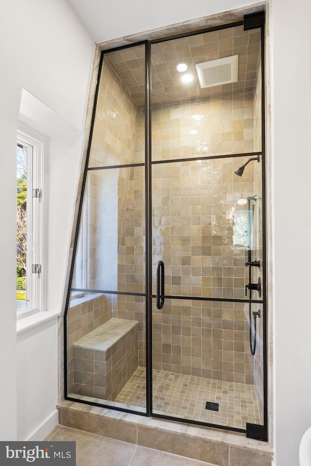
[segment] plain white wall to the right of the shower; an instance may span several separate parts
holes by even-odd
[[[311,426],[311,2],[273,0],[276,465]]]

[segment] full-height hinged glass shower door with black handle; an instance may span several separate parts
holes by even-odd
[[[236,431],[264,423],[260,40],[151,45],[152,414]]]

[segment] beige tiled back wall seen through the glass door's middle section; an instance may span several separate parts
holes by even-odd
[[[241,244],[233,244],[234,214],[244,210],[236,201],[241,190],[248,194],[245,185],[253,183],[253,172],[238,178],[234,170],[243,159],[238,160],[153,169],[154,292],[156,263],[163,258],[167,294],[244,297],[246,255]]]

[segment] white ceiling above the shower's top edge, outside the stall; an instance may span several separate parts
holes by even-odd
[[[231,10],[232,0],[67,0],[96,43]],[[207,5],[208,3],[208,5]],[[249,0],[239,0],[246,6]]]

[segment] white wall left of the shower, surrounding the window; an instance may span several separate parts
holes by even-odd
[[[52,414],[57,393],[57,319],[18,335],[18,345],[16,337],[16,130],[21,91],[25,88],[81,131],[93,55],[93,40],[65,0],[1,2],[0,440],[14,440],[17,432],[20,440],[31,435]],[[64,156],[58,151],[50,159],[50,200],[55,199],[50,221],[55,219],[55,223],[49,228],[49,311],[60,311],[81,143],[71,141],[69,151],[64,144]],[[69,162],[73,162],[70,172]],[[64,169],[68,177],[63,190],[65,196],[68,191],[70,194],[63,198],[59,190],[64,184]],[[35,374],[50,382],[47,400],[47,393],[38,390]]]

